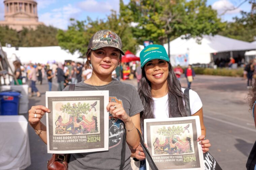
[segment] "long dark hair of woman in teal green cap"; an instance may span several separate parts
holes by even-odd
[[[185,96],[181,90],[181,83],[176,77],[170,62],[167,63],[169,70],[167,77],[169,117],[185,117],[186,111],[183,103]],[[138,93],[144,106],[144,111],[140,113],[140,124],[143,130],[144,119],[155,118],[153,113],[155,106],[151,95],[151,82],[146,77],[145,66],[142,68],[142,78],[140,80]]]

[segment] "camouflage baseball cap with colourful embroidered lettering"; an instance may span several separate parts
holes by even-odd
[[[98,50],[103,47],[117,48],[122,55],[125,55],[122,50],[122,41],[120,37],[110,30],[101,30],[95,33],[89,42],[87,50]]]

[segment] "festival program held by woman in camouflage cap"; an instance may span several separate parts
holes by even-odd
[[[108,91],[46,92],[47,152],[108,150]]]

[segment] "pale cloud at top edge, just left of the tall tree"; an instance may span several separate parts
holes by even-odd
[[[111,2],[85,0],[79,2],[77,5],[86,12],[108,13],[111,9],[119,12],[119,0],[112,0]]]

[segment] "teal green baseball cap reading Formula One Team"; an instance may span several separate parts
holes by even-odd
[[[144,48],[140,54],[140,67],[142,68],[147,62],[154,59],[162,59],[165,61],[170,61],[168,54],[163,46],[152,44]]]

